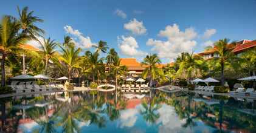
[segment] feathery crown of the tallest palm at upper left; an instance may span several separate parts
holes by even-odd
[[[36,36],[41,36],[41,33],[44,34],[44,30],[36,27],[36,22],[44,22],[42,19],[37,16],[33,16],[34,11],[28,11],[29,7],[24,7],[22,10],[19,10],[19,23],[21,24],[22,33],[29,34],[30,37],[36,39]]]

